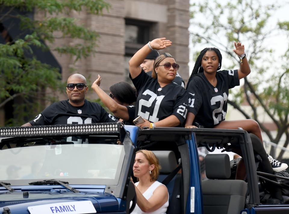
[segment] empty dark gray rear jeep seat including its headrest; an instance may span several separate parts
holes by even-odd
[[[227,154],[208,154],[205,157],[206,176],[202,181],[204,214],[240,214],[244,209],[247,183],[230,178],[230,159]]]

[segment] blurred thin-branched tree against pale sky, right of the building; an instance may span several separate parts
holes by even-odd
[[[193,45],[208,44],[209,47],[219,48],[225,53],[223,59],[234,67],[238,67],[239,59],[232,51],[233,41],[246,41],[251,74],[245,78],[243,88],[235,92],[235,97],[229,103],[246,118],[252,117],[259,122],[263,131],[275,143],[280,141],[283,134],[289,136],[289,51],[282,57],[276,57],[274,47],[268,44],[269,39],[277,35],[289,35],[289,21],[271,19],[278,8],[277,4],[265,5],[256,0],[221,3],[204,0],[191,6],[190,28]],[[240,106],[245,100],[251,107],[251,114]],[[260,107],[262,113],[257,110]],[[259,114],[266,114],[272,119],[278,127],[276,135],[273,136],[262,124]],[[289,138],[284,146],[288,143]]]

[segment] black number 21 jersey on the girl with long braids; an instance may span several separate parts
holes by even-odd
[[[189,112],[195,115],[194,123],[213,128],[227,113],[229,88],[240,85],[238,70],[222,70],[216,73],[214,87],[204,73],[196,74],[188,85]]]

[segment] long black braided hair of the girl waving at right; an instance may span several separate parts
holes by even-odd
[[[191,76],[190,76],[190,78],[189,78],[189,80],[188,80],[186,89],[188,89],[189,82],[191,81],[191,79],[193,78],[193,76],[195,76],[197,73],[202,73],[202,72],[204,72],[204,69],[203,69],[203,67],[202,67],[202,63],[201,63],[201,62],[202,62],[203,56],[205,55],[205,53],[206,53],[207,51],[215,51],[215,52],[216,52],[216,54],[217,54],[217,56],[218,56],[218,58],[219,58],[219,67],[217,68],[217,70],[220,70],[220,69],[221,69],[221,67],[222,67],[222,54],[221,54],[221,52],[219,51],[219,49],[218,49],[218,48],[205,48],[205,49],[203,49],[203,50],[200,52],[200,54],[199,54],[199,56],[198,56],[198,58],[197,58],[197,60],[196,60],[196,62],[195,62],[194,69],[193,69],[193,71],[192,71],[192,73],[191,73]]]

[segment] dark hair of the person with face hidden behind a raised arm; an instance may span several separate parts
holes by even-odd
[[[128,82],[118,82],[109,88],[112,95],[122,103],[132,104],[136,101],[136,91]]]

